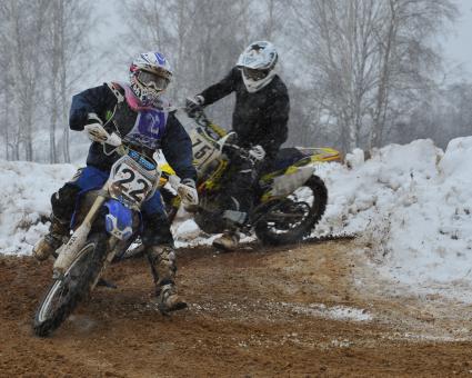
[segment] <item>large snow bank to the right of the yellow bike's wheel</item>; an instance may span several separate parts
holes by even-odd
[[[354,151],[355,152],[355,151]],[[315,235],[352,232],[380,272],[419,292],[463,300],[472,282],[472,137],[391,145],[365,162],[320,167],[330,200]]]

